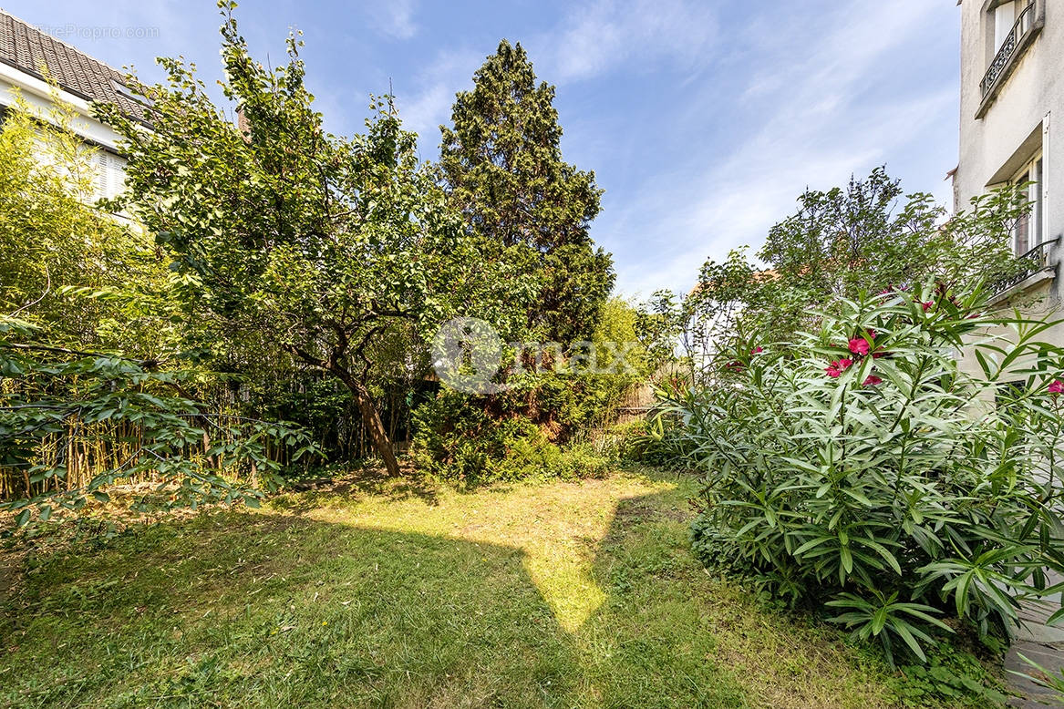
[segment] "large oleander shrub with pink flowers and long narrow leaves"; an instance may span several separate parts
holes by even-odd
[[[1059,590],[1062,351],[1038,341],[1049,323],[980,302],[842,301],[819,332],[746,343],[714,385],[677,390],[665,412],[704,476],[703,558],[837,612],[892,661],[922,660],[944,615],[1009,635],[1021,600]]]

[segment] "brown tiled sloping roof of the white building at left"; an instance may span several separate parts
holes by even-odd
[[[89,102],[114,103],[122,113],[142,118],[144,106],[119,92],[124,75],[34,26],[0,10],[0,62],[37,79],[41,65],[60,88]]]

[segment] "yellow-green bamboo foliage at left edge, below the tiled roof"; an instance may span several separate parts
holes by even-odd
[[[41,120],[41,118],[44,120]],[[16,101],[0,129],[0,313],[52,344],[163,358],[173,333],[166,265],[150,237],[89,204],[93,161],[59,101],[38,118]]]

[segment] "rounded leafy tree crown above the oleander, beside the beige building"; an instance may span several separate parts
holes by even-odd
[[[929,280],[950,288],[993,283],[1014,268],[1008,237],[1027,206],[1020,193],[980,196],[951,216],[930,195],[904,195],[877,168],[845,189],[803,192],[758,255],[775,271],[774,287],[822,301]]]

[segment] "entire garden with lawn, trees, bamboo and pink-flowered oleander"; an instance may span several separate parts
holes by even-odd
[[[1064,618],[1064,351],[992,305],[1023,186],[877,169],[629,301],[519,44],[428,162],[219,6],[238,120],[129,77],[119,197],[61,102],[0,129],[0,703],[1004,706]]]

